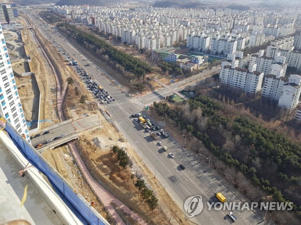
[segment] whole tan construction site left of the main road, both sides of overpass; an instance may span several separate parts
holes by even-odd
[[[110,224],[190,224],[51,43],[31,27],[29,17],[21,17],[20,22],[30,28],[6,35],[29,131],[34,134],[88,115],[96,115],[99,123],[78,133],[75,141],[43,150],[42,157]],[[66,82],[69,77],[72,84]],[[87,95],[85,103],[80,103],[75,88]],[[114,145],[126,150],[130,167],[120,168],[111,151]],[[155,210],[141,201],[137,179],[156,192]]]

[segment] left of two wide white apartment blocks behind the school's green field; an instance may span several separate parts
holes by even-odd
[[[205,34],[202,34],[201,36],[188,35],[187,37],[187,47],[193,51],[208,53],[209,42],[210,38],[206,37]]]

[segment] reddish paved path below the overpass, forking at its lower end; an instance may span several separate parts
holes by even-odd
[[[120,202],[116,197],[114,197],[110,192],[108,192],[105,188],[103,188],[99,183],[97,183],[94,178],[92,178],[91,174],[89,173],[85,163],[82,161],[82,158],[80,157],[74,143],[69,143],[69,146],[71,148],[71,151],[77,161],[78,166],[81,168],[82,173],[84,174],[85,178],[87,179],[88,183],[96,193],[96,195],[99,197],[99,199],[103,202],[104,207],[108,210],[108,212],[111,214],[111,216],[114,218],[117,224],[119,225],[125,225],[125,223],[122,221],[121,217],[116,213],[115,209],[112,207],[111,202],[114,202],[116,205],[118,205],[124,212],[131,215],[133,219],[135,219],[138,223],[141,225],[146,225],[147,223],[140,218],[140,216],[130,210],[126,205],[124,205],[122,202]]]

